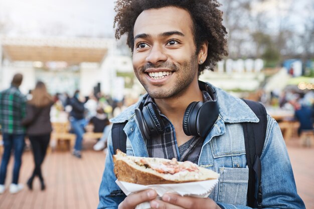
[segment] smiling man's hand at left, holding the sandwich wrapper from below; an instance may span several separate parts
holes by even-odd
[[[157,197],[155,190],[149,189],[128,195],[118,206],[118,209],[134,209],[136,205],[151,201]]]

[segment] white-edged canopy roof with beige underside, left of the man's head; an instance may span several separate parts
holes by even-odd
[[[94,38],[1,38],[3,55],[10,61],[100,63],[112,44],[110,39]]]

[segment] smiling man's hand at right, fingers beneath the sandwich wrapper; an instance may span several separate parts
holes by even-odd
[[[150,206],[154,209],[221,209],[210,198],[180,196],[178,194],[164,194],[163,200],[151,200]]]

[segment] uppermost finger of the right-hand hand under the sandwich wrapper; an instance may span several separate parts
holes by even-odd
[[[180,196],[178,194],[166,193],[162,199],[174,205],[181,206],[186,209],[195,208],[216,208],[217,204],[210,198],[200,198],[191,196]]]

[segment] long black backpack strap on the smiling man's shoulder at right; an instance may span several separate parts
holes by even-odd
[[[262,187],[261,187],[261,161],[260,156],[264,147],[266,129],[267,129],[267,113],[265,107],[258,102],[244,100],[258,117],[258,123],[243,123],[246,161],[249,167],[249,181],[247,189],[248,206],[262,208]],[[256,191],[255,181],[258,182]],[[257,198],[255,198],[257,193]]]

